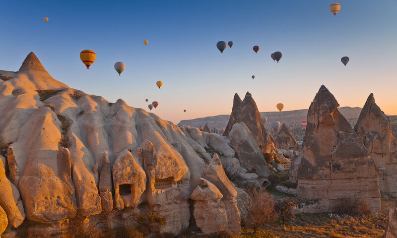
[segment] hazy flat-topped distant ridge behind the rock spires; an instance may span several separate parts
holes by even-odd
[[[349,123],[354,127],[360,116],[361,108],[351,108],[351,107],[340,107],[339,112],[349,121]],[[284,111],[284,112],[262,112],[262,118],[267,118],[265,127],[270,133],[275,132],[270,127],[270,122],[273,120],[279,120],[281,123],[286,123],[292,133],[295,135],[297,140],[302,140],[305,135],[305,129],[301,124],[301,121],[307,120],[308,109]],[[229,121],[230,115],[219,115],[206,118],[197,118],[191,120],[181,120],[178,125],[190,125],[199,127],[204,127],[205,123],[208,123],[209,127],[225,128],[227,122]],[[395,134],[397,134],[397,116],[389,116],[390,122],[392,123],[392,129]]]

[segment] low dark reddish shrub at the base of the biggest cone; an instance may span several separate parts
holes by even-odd
[[[368,204],[359,199],[341,199],[337,205],[335,210],[337,214],[350,215],[350,216],[359,216],[359,215],[369,215],[371,214],[371,210],[368,207]]]

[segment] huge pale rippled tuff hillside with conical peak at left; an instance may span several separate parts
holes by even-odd
[[[210,178],[223,194],[227,229],[240,233],[237,193],[226,185],[222,166],[210,162],[197,128],[186,135],[121,99],[110,103],[69,88],[33,53],[18,72],[0,75],[0,143],[9,147],[8,161],[1,157],[0,206],[8,226],[21,225],[26,213],[31,236],[57,236],[76,224],[84,231],[114,230],[126,226],[132,212],[145,215],[152,206],[166,218],[162,232],[178,234],[189,225],[193,188]],[[111,222],[101,222],[110,210]],[[76,214],[87,219],[78,223]],[[3,218],[0,212],[0,230]]]

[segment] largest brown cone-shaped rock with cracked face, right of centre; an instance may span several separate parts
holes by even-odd
[[[322,85],[309,108],[300,165],[294,161],[297,193],[319,199],[321,212],[335,211],[343,199],[379,210],[379,170],[338,106]]]

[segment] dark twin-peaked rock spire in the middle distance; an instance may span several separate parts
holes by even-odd
[[[247,125],[263,153],[269,153],[271,155],[275,153],[274,138],[262,123],[262,117],[258,111],[257,104],[249,92],[247,92],[243,101],[241,101],[237,93],[234,95],[232,114],[223,135],[229,135],[233,125],[239,122],[244,122]]]

